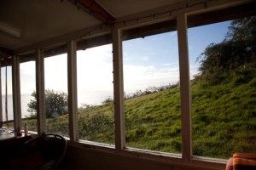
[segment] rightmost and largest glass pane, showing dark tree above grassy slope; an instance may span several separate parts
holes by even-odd
[[[255,23],[253,17],[189,29],[194,156],[256,153]]]

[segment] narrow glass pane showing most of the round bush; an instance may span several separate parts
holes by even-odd
[[[47,133],[69,136],[67,109],[67,54],[44,59]]]

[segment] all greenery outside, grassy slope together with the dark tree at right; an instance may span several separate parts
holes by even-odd
[[[235,20],[225,40],[201,54],[201,74],[191,81],[193,155],[256,153],[255,35],[255,17]],[[79,139],[114,144],[111,99],[84,105],[78,116]],[[48,118],[49,131],[68,136],[67,120]],[[126,146],[181,153],[178,84],[125,98],[125,139]]]

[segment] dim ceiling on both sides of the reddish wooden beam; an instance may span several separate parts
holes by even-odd
[[[67,42],[70,38],[74,38],[72,37],[74,34],[76,37],[87,34],[89,34],[88,37],[93,37],[95,35],[90,35],[91,29],[99,28],[100,31],[106,31],[100,26],[102,20],[89,14],[90,7],[87,10],[88,7],[78,8],[74,4],[95,3],[94,1],[111,14],[118,23],[148,14],[161,14],[170,8],[178,8],[179,5],[184,6],[186,3],[188,5],[188,2],[196,3],[206,0],[3,0],[0,3],[0,50],[19,52],[23,49],[21,51],[24,52],[26,49],[46,48],[45,44],[49,46],[59,44],[65,38]],[[197,17],[194,22],[201,23],[201,20]],[[103,31],[101,33],[106,33]],[[107,31],[110,32],[109,27]],[[52,43],[49,44],[49,42]]]

